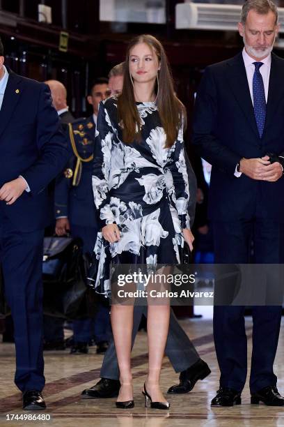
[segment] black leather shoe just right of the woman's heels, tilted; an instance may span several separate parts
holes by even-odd
[[[211,373],[207,363],[200,359],[187,370],[180,373],[180,384],[168,389],[168,394],[183,394],[191,391],[198,380],[204,380]]]

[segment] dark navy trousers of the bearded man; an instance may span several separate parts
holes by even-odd
[[[214,223],[216,264],[246,264],[253,237],[254,262],[283,262],[283,224],[252,218]],[[253,354],[250,389],[276,385],[273,364],[281,324],[281,306],[253,306]],[[214,342],[221,371],[220,386],[242,391],[246,382],[247,345],[243,306],[214,306]]]

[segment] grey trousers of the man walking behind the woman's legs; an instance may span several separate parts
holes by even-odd
[[[147,316],[147,306],[134,306],[132,347],[134,345],[134,340],[143,314]],[[196,361],[200,359],[196,348],[178,323],[172,309],[165,352],[168,359],[170,359],[175,372],[182,372],[182,370],[186,370],[189,366],[194,365]],[[116,358],[116,347],[114,345],[113,337],[111,338],[106,354],[104,354],[100,377],[109,378],[111,380],[119,379],[118,359]]]

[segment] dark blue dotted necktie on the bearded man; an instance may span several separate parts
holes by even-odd
[[[253,62],[253,65],[255,66],[253,74],[253,108],[256,124],[258,125],[258,133],[262,137],[266,114],[265,85],[260,74],[260,67],[263,65],[263,62]]]

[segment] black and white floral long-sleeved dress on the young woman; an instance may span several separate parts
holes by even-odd
[[[173,147],[155,103],[136,103],[141,141],[125,144],[117,118],[117,99],[100,103],[93,160],[93,193],[100,225],[116,223],[121,239],[113,244],[97,235],[97,292],[109,294],[110,262],[176,264],[189,228],[189,184],[184,161],[183,130]]]

